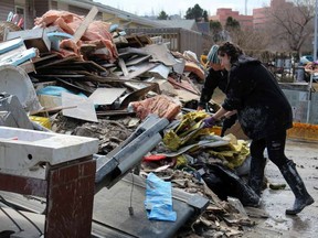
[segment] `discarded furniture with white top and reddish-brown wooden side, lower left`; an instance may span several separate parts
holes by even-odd
[[[91,237],[97,150],[97,139],[0,127],[0,191],[46,198],[45,238]]]

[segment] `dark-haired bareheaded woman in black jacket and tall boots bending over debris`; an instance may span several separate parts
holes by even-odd
[[[261,195],[264,177],[264,150],[277,165],[290,186],[295,203],[286,214],[296,215],[314,203],[299,176],[296,164],[285,155],[286,131],[293,127],[292,107],[271,72],[257,60],[242,53],[231,42],[220,45],[218,55],[227,71],[226,98],[222,107],[204,127],[215,125],[227,111],[237,111],[237,119],[251,142],[251,169],[248,184]],[[226,79],[225,79],[226,80]]]

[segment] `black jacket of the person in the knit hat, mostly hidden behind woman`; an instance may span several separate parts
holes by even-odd
[[[211,100],[216,87],[219,87],[225,94],[225,88],[227,85],[226,80],[226,71],[214,71],[213,68],[210,68],[201,91],[199,106],[205,108],[205,105]]]

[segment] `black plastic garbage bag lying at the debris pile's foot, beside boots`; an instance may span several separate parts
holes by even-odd
[[[236,197],[244,206],[258,206],[259,196],[229,167],[223,164],[205,164],[206,173],[202,178],[220,199]]]

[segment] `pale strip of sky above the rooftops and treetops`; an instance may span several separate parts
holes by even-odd
[[[247,2],[247,14],[252,14],[253,9],[268,7],[271,0],[94,0],[123,11],[137,15],[158,15],[162,10],[168,14],[186,15],[189,8],[199,4],[206,10],[210,15],[215,14],[219,8],[231,8],[245,14],[245,1]]]

